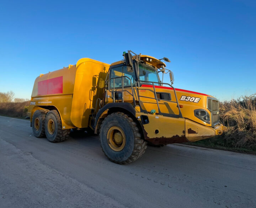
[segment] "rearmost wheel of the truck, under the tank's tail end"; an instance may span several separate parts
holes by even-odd
[[[40,109],[34,112],[32,117],[32,131],[35,137],[38,137],[38,138],[45,137],[44,121],[48,111],[49,110],[47,109]]]

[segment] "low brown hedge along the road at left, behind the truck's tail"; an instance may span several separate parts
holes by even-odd
[[[0,103],[0,115],[25,118],[30,101],[23,103]]]

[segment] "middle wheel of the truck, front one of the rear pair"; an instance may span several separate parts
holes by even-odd
[[[60,115],[57,110],[51,110],[47,113],[44,131],[50,142],[62,142],[69,137],[70,133],[70,129],[62,129]]]

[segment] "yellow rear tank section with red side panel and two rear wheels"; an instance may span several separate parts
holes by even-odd
[[[38,76],[28,108],[34,135],[46,134],[51,142],[58,142],[68,137],[71,128],[90,126],[91,108],[102,99],[108,68],[108,64],[83,58],[76,65]],[[44,131],[49,111],[53,113],[47,119],[49,131]],[[33,117],[35,112],[39,117]],[[61,133],[54,131],[57,125]]]

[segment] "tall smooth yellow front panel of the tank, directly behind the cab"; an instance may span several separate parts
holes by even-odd
[[[104,81],[110,65],[84,58],[77,64],[74,85],[71,121],[78,128],[88,126],[91,109],[95,108],[97,98],[102,99]]]

